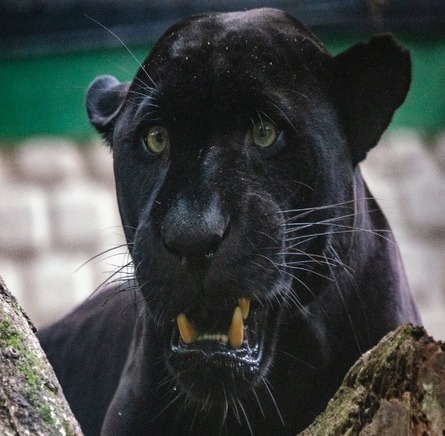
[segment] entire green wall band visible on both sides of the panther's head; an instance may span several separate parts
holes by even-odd
[[[445,38],[399,37],[411,50],[413,85],[393,126],[427,133],[445,128]],[[333,53],[356,41],[324,38]],[[148,47],[133,47],[143,60]],[[100,74],[130,80],[138,68],[124,49],[0,60],[0,139],[29,135],[69,135],[85,139],[93,133],[85,111],[85,91]]]

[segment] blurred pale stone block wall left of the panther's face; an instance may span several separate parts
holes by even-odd
[[[114,256],[124,249],[107,252],[124,238],[111,154],[99,143],[42,138],[2,149],[0,199],[0,274],[38,326],[125,261]]]

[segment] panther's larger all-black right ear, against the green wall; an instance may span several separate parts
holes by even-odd
[[[409,52],[388,34],[334,57],[334,99],[354,165],[377,144],[405,100],[410,82]]]

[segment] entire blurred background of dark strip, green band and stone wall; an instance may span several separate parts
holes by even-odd
[[[2,0],[0,275],[37,326],[128,262],[111,154],[84,108],[88,84],[99,74],[130,80],[133,56],[143,61],[182,17],[260,6],[291,12],[334,54],[388,31],[410,49],[409,97],[362,167],[396,233],[424,323],[445,339],[441,0]]]

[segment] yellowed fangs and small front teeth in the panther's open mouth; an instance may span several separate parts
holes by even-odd
[[[227,333],[199,332],[188,320],[185,313],[180,313],[176,318],[179,335],[186,345],[196,341],[212,340],[222,342],[225,345],[230,343],[233,348],[238,349],[244,342],[244,320],[248,318],[249,311],[250,300],[247,298],[239,298],[238,305],[233,311],[232,321]]]

